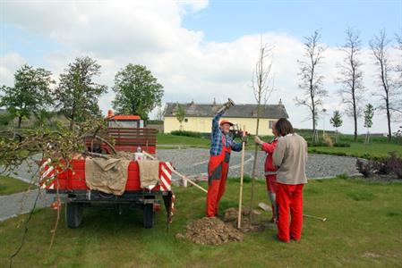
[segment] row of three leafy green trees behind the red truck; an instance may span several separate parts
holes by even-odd
[[[14,74],[13,87],[1,86],[0,107],[7,110],[7,120],[17,118],[17,128],[23,120],[34,116],[44,123],[54,113],[61,113],[74,123],[100,117],[99,96],[107,93],[107,86],[95,80],[101,66],[88,56],[76,58],[60,74],[59,82],[43,68],[24,64]],[[149,113],[161,104],[163,87],[145,66],[128,64],[115,75],[117,113],[138,114],[148,120]]]

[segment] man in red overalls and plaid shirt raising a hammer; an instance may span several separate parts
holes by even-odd
[[[235,143],[229,135],[233,123],[227,120],[218,123],[229,107],[230,105],[225,105],[212,120],[210,162],[208,163],[207,217],[215,217],[218,214],[219,201],[225,193],[231,151],[242,150],[242,144]]]

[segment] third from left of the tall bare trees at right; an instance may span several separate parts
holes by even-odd
[[[385,29],[381,29],[379,35],[375,35],[370,41],[370,47],[372,54],[374,55],[375,64],[379,68],[379,74],[377,76],[379,84],[382,89],[382,93],[376,93],[375,96],[380,96],[383,104],[379,105],[379,109],[387,113],[388,121],[388,138],[392,138],[391,132],[391,113],[395,109],[394,97],[395,97],[395,85],[393,84],[389,73],[392,71],[392,67],[389,63],[389,39],[385,33]]]

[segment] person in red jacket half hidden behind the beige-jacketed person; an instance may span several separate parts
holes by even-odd
[[[277,168],[272,163],[272,154],[277,147],[278,143],[278,135],[277,130],[275,129],[275,123],[272,124],[272,133],[275,135],[275,138],[272,139],[271,142],[263,142],[260,137],[254,136],[254,141],[256,144],[261,145],[261,150],[267,153],[265,158],[265,181],[267,184],[267,192],[270,204],[272,205],[272,219],[271,222],[277,222],[278,218],[278,206],[276,201],[276,193],[277,193]]]

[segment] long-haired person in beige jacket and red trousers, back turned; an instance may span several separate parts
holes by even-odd
[[[287,119],[279,119],[275,128],[280,137],[272,157],[278,168],[278,239],[287,243],[290,239],[302,238],[303,187],[307,183],[307,142],[295,134]]]

